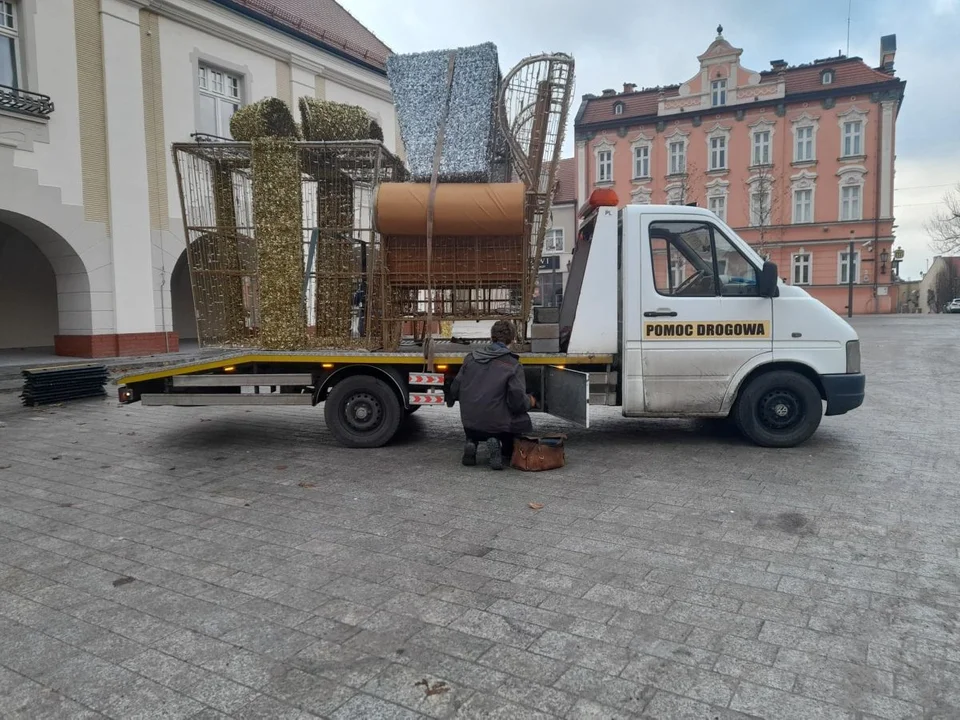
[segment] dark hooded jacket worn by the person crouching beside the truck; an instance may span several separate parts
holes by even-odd
[[[450,386],[450,397],[460,402],[460,419],[467,430],[496,434],[533,429],[523,367],[501,343],[467,356]]]

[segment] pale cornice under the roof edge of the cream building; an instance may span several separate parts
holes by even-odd
[[[290,40],[288,40],[288,43],[271,42],[270,30],[264,32],[263,26],[260,23],[258,23],[258,25],[260,25],[259,27],[250,27],[249,29],[238,28],[236,27],[236,23],[229,23],[224,19],[217,18],[215,13],[211,13],[210,4],[207,4],[207,11],[203,12],[200,10],[199,6],[196,2],[194,2],[194,0],[125,1],[137,4],[141,7],[149,8],[161,17],[183,23],[184,25],[188,25],[197,30],[209,33],[210,35],[214,35],[215,37],[226,40],[227,42],[243,46],[255,52],[266,55],[267,57],[274,58],[275,60],[281,60],[283,62],[290,63],[291,65],[306,70],[307,72],[311,72],[314,75],[321,75],[332,82],[349,87],[352,90],[357,90],[366,95],[383,100],[384,102],[393,102],[393,94],[390,92],[386,77],[383,77],[382,82],[365,80],[345,70],[342,70],[333,64],[318,63],[315,60],[307,57],[302,52],[298,52],[297,50],[289,47],[288,43],[291,41],[297,44],[305,43],[315,47],[315,45],[312,43],[308,43],[305,40],[300,40],[293,37],[291,33],[286,33],[282,30],[275,30],[274,32],[276,32],[278,35],[284,35],[287,38],[290,38]],[[221,7],[219,5],[215,5],[214,7],[223,13],[235,15],[235,13],[225,7]],[[256,22],[252,18],[249,20],[251,22]],[[349,60],[341,59],[339,56],[334,55],[323,47],[316,47],[316,51],[332,55],[336,58],[336,60],[339,60],[343,63],[350,62]],[[355,64],[355,67],[357,68],[357,72],[367,72],[380,75],[378,71],[368,69],[359,64]]]

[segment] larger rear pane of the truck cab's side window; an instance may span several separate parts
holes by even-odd
[[[710,226],[690,222],[650,224],[653,283],[661,295],[713,297],[713,246]]]

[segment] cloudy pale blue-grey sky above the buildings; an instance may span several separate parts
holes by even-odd
[[[761,0],[339,0],[394,52],[497,45],[504,71],[528,55],[567,52],[576,61],[573,111],[584,93],[680,83],[693,76],[723,25],[741,63],[766,70],[846,51],[847,2]],[[897,120],[894,206],[904,277],[919,277],[933,253],[923,230],[960,182],[960,0],[850,0],[850,55],[875,67],[880,36],[897,36],[896,73],[907,81]],[[571,116],[573,112],[571,112]],[[566,147],[572,128],[568,131]]]

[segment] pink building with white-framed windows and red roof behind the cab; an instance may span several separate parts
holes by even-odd
[[[906,83],[894,36],[871,68],[843,56],[754,72],[722,28],[681,85],[585,95],[575,122],[577,196],[696,204],[783,279],[846,314],[896,307],[890,263],[896,118]],[[849,243],[855,252],[850,262]]]

